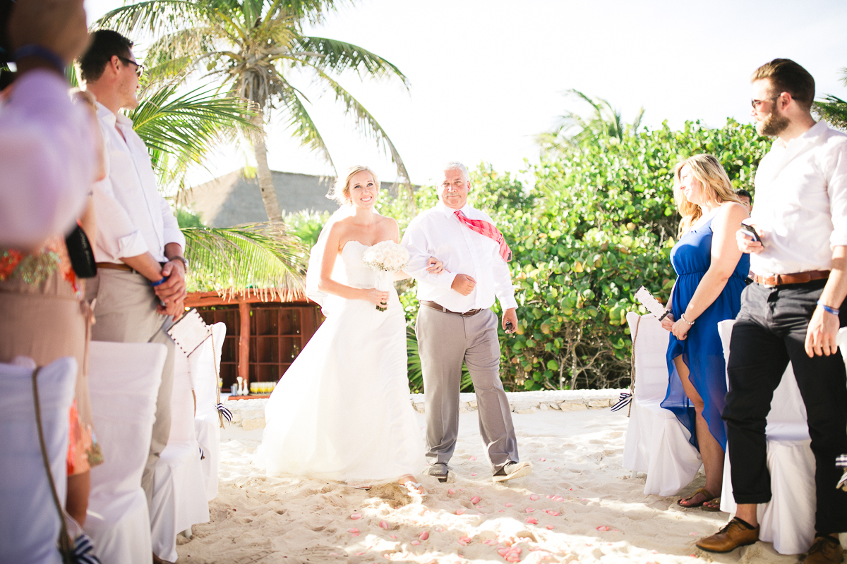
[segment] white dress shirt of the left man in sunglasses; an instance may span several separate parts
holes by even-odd
[[[94,187],[97,210],[97,262],[121,262],[126,256],[149,251],[159,262],[167,259],[164,246],[185,237],[168,201],[156,189],[156,175],[144,141],[130,118],[115,115],[97,102],[106,145],[106,178]]]

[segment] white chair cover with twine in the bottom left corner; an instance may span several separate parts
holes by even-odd
[[[56,549],[58,510],[44,469],[32,397],[35,368],[36,363],[26,357],[0,364],[0,562],[61,564]],[[75,385],[76,360],[71,357],[56,359],[38,373],[44,443],[62,502],[67,491],[68,422]]]

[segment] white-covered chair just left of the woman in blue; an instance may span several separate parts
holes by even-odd
[[[702,461],[689,442],[689,431],[660,405],[667,393],[669,333],[652,314],[630,311],[627,322],[635,340],[635,393],[623,444],[623,468],[647,474],[645,495],[673,496],[695,478]]]

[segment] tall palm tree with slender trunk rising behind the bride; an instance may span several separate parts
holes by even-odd
[[[141,30],[162,34],[147,50],[148,61],[183,76],[205,73],[218,79],[230,95],[243,97],[257,108],[252,143],[259,189],[268,220],[279,221],[280,202],[265,145],[269,114],[284,112],[286,126],[302,145],[333,164],[307,111],[307,97],[289,80],[295,70],[307,71],[314,82],[331,90],[345,113],[356,119],[357,129],[390,153],[398,176],[409,189],[412,185],[385,130],[331,74],[352,70],[360,78],[400,79],[408,88],[407,78],[394,64],[362,47],[303,35],[304,20],[319,23],[330,10],[335,10],[335,0],[147,0],[114,9],[97,25],[125,34]]]

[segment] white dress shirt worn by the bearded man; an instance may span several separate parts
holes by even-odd
[[[820,121],[788,144],[776,140],[756,170],[752,220],[765,249],[760,276],[826,271],[847,245],[847,135]]]

